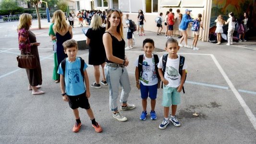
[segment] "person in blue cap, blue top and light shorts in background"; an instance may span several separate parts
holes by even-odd
[[[189,10],[189,9],[185,10],[185,14],[183,14],[182,21],[181,21],[181,24],[179,26],[179,31],[181,31],[182,35],[183,35],[182,38],[180,39],[180,42],[179,42],[180,47],[190,48],[187,45],[187,27],[188,27],[188,24],[190,22],[194,22],[194,20],[192,20],[192,18],[190,16],[190,12],[191,12],[191,10]],[[182,45],[183,40],[185,41],[185,46]]]

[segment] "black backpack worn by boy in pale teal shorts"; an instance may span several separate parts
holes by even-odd
[[[163,76],[164,76],[165,69],[166,69],[167,57],[168,57],[168,54],[164,54],[163,59],[162,59],[162,62],[163,62],[163,69],[162,69]],[[181,76],[182,76],[182,69],[183,69],[184,62],[185,62],[185,57],[180,56],[179,73],[180,73]],[[186,81],[186,78],[187,78],[187,72],[186,72],[186,75],[185,75],[185,81]],[[185,81],[184,81],[184,83],[185,83]],[[163,82],[162,82],[162,88],[163,88]],[[182,90],[183,90],[183,93],[185,94],[184,86],[182,87]]]

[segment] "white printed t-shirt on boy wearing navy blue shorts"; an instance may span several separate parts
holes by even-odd
[[[134,61],[134,65],[138,67],[139,58]],[[146,58],[143,55],[142,62],[142,76],[139,78],[143,85],[155,85],[158,84],[158,76],[155,70],[155,60],[152,54],[152,58]]]

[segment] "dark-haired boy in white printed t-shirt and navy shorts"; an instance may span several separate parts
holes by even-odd
[[[146,38],[143,41],[143,50],[145,54],[140,55],[134,62],[136,66],[135,69],[135,78],[136,78],[136,87],[140,89],[141,98],[142,98],[142,114],[140,120],[146,120],[146,105],[147,97],[151,99],[151,111],[150,118],[151,120],[156,120],[157,115],[155,112],[156,98],[158,92],[158,55],[153,55],[154,50],[154,41],[153,39]]]

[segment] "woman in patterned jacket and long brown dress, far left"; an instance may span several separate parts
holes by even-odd
[[[28,77],[28,90],[32,90],[32,95],[40,95],[45,92],[37,90],[40,88],[39,85],[42,84],[42,71],[39,61],[39,54],[37,46],[40,43],[37,43],[37,39],[35,34],[33,34],[29,27],[32,25],[32,16],[28,13],[23,13],[20,16],[20,21],[18,24],[18,39],[19,39],[19,49],[21,50],[21,54],[31,53],[35,56],[35,60],[37,63],[37,68],[35,69],[26,69],[27,77]]]

